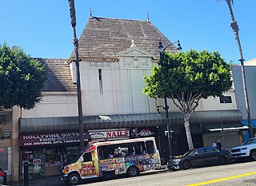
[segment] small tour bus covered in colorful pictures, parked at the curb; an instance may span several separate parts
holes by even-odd
[[[160,166],[154,137],[112,140],[86,147],[73,163],[66,165],[60,180],[78,184],[80,180],[101,176],[138,176],[139,172]]]

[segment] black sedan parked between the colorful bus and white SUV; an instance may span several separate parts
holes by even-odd
[[[182,156],[170,157],[167,167],[171,170],[190,169],[213,164],[226,164],[231,160],[227,150],[212,147],[203,147],[186,152]]]

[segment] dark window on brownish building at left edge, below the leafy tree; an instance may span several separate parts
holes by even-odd
[[[11,137],[11,115],[10,113],[0,113],[0,140]]]

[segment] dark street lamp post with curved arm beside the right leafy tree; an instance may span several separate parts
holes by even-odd
[[[168,46],[170,46],[170,45],[172,45],[174,43],[178,44],[178,47],[177,47],[178,50],[182,49],[182,46],[181,46],[179,40],[177,42],[170,43],[166,47],[163,47],[162,46],[161,38],[159,38],[158,50],[159,50],[159,53],[160,53],[159,64],[161,66],[161,73],[163,73],[163,69],[166,70],[166,67],[162,64],[162,53],[166,50],[166,48]],[[173,144],[172,144],[172,133],[171,133],[172,131],[171,131],[171,128],[170,128],[170,118],[169,118],[169,113],[168,113],[169,106],[167,104],[167,97],[166,97],[166,95],[163,97],[163,100],[164,100],[164,106],[157,106],[157,109],[162,107],[162,109],[164,109],[166,111],[166,135],[167,135],[167,138],[168,138],[169,156],[172,156],[173,155]]]

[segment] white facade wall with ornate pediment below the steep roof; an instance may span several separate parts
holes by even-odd
[[[142,89],[142,77],[148,76],[156,63],[150,53],[137,47],[118,53],[119,61],[81,61],[82,109],[84,116],[133,113],[155,113],[162,99],[148,98]],[[99,81],[101,70],[101,82]],[[70,64],[76,82],[75,65]],[[221,104],[219,97],[201,100],[197,111],[237,109],[234,89],[224,93],[232,103]],[[169,112],[178,112],[171,100]],[[164,112],[164,110],[161,110]],[[44,93],[43,101],[32,110],[23,110],[22,117],[72,117],[78,116],[77,95],[74,93]]]

